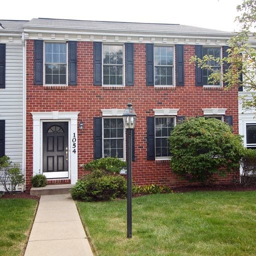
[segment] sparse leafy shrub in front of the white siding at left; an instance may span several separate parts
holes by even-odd
[[[15,191],[16,185],[24,184],[24,175],[19,164],[12,163],[6,155],[0,157],[0,183],[6,192]]]

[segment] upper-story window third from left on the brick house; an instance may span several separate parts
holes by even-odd
[[[173,85],[172,46],[154,46],[154,85]]]

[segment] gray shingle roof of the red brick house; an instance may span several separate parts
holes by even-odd
[[[89,20],[69,20],[51,18],[33,18],[26,24],[50,27],[73,27],[89,29],[109,29],[127,31],[149,31],[149,32],[194,32],[194,33],[223,33],[227,31],[208,29],[196,26],[180,24],[158,24],[158,23],[136,23],[136,22],[114,22],[114,21],[89,21]]]

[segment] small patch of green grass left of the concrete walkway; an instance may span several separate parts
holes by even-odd
[[[33,199],[0,199],[0,256],[21,256],[37,201]]]

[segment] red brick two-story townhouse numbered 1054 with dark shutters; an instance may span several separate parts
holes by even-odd
[[[237,90],[207,84],[207,71],[189,61],[223,56],[230,36],[179,24],[25,23],[26,188],[38,172],[49,183],[75,183],[94,158],[125,159],[121,115],[128,102],[137,114],[133,181],[184,185],[168,161],[167,137],[177,121],[214,116],[238,133]]]

